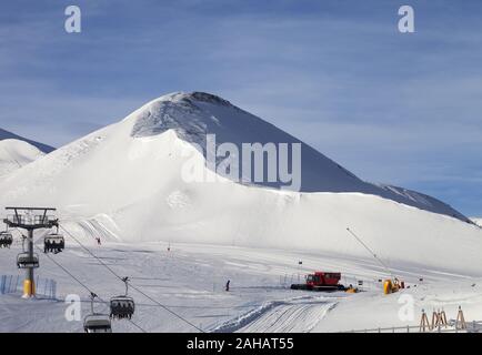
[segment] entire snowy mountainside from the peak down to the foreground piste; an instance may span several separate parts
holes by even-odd
[[[399,318],[401,294],[382,295],[376,281],[389,276],[386,270],[348,226],[409,285],[423,277],[423,285],[403,292],[413,295],[416,316],[422,308],[445,307],[454,317],[462,305],[468,320],[482,320],[481,229],[444,215],[450,207],[423,194],[368,184],[305,145],[308,179],[301,193],[228,179],[187,182],[187,162],[214,175],[204,165],[205,152],[192,145],[202,143],[205,131],[215,131],[218,143],[251,135],[249,141],[295,142],[221,99],[171,94],[1,179],[0,209],[58,207],[62,227],[111,268],[209,332],[416,325],[418,318]],[[329,179],[317,179],[323,174]],[[66,251],[52,256],[58,263],[103,300],[123,292],[119,280],[66,237]],[[1,251],[1,274],[22,274],[16,268],[20,251],[16,235],[13,247]],[[303,261],[301,267],[298,261]],[[59,300],[0,295],[0,331],[80,332],[81,322],[66,321],[63,297],[79,294],[84,316],[87,290],[43,253],[40,264],[37,274],[57,281]],[[368,292],[313,295],[285,288],[314,270],[342,272],[345,284],[364,280]],[[232,282],[230,293],[223,291],[227,280]],[[132,295],[133,321],[145,331],[194,331],[141,294]],[[96,310],[106,312],[107,306]],[[113,328],[139,331],[128,322],[116,322]]]

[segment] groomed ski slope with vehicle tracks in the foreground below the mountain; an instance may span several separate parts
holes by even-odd
[[[339,332],[418,325],[422,308],[431,312],[443,307],[449,318],[454,318],[459,305],[468,321],[482,320],[481,277],[400,264],[394,271],[411,288],[386,296],[376,278],[388,275],[370,257],[209,244],[132,245],[107,240],[98,246],[81,233],[76,239],[116,273],[129,275],[132,285],[204,332]],[[14,257],[19,251],[20,245],[0,251],[2,273],[18,273]],[[66,251],[51,257],[104,301],[123,293],[123,284],[69,236]],[[299,260],[303,261],[301,268]],[[43,254],[40,264],[41,277],[57,280],[58,300],[0,295],[0,332],[82,332],[81,321],[66,320],[69,305],[64,298],[71,294],[81,297],[83,318],[90,312],[89,292]],[[314,270],[341,271],[345,283],[364,280],[365,292],[313,294],[288,288],[299,281],[299,274]],[[230,292],[224,291],[227,280],[231,281]],[[399,318],[402,294],[415,300],[414,320]],[[116,321],[114,332],[197,332],[142,294],[131,290],[130,295],[137,302],[135,325]],[[97,303],[96,311],[108,312],[108,307]]]

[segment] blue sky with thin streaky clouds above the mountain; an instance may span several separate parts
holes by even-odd
[[[476,0],[2,1],[0,126],[59,146],[207,91],[364,180],[482,215],[481,18]]]

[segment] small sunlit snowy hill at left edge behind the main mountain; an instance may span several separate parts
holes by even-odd
[[[39,149],[24,141],[0,141],[0,179],[43,155]]]

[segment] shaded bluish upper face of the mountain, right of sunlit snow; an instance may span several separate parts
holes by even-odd
[[[369,193],[472,223],[462,213],[435,197],[390,184],[365,182],[272,123],[210,93],[169,93],[142,105],[127,119],[134,121],[131,133],[133,138],[162,134],[172,129],[182,140],[198,146],[207,145],[204,138],[208,133],[215,134],[217,145],[223,142],[231,142],[238,146],[242,142],[301,143],[303,165],[308,165],[308,169],[302,170],[301,192]],[[205,151],[201,153],[207,158]],[[279,189],[281,184],[262,183],[261,185]]]

